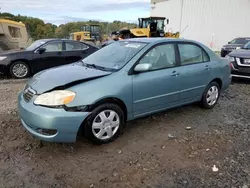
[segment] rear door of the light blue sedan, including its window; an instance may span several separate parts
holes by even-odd
[[[205,50],[194,43],[178,43],[181,66],[180,100],[182,103],[198,100],[211,81],[212,62]]]

